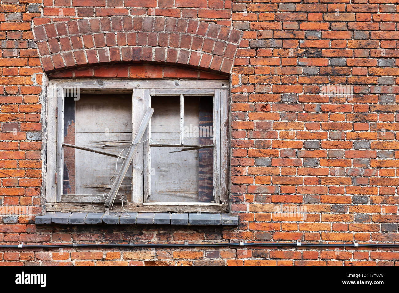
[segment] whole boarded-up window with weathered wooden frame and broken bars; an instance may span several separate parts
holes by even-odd
[[[51,81],[47,211],[228,211],[228,84]]]

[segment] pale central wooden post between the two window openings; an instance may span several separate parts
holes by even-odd
[[[132,92],[132,130],[133,135],[138,131],[140,122],[144,118],[144,89],[134,88]],[[132,202],[142,203],[144,181],[144,144],[139,144],[133,157],[132,166]]]

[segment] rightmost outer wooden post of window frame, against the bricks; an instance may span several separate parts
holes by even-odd
[[[229,202],[230,194],[230,134],[229,90],[220,90],[220,201]]]

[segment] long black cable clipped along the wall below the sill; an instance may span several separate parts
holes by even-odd
[[[49,245],[0,245],[0,248],[63,248],[63,247],[226,247],[226,246],[294,246],[294,247],[399,247],[399,244],[357,244],[357,243],[192,243],[192,244],[49,244]]]

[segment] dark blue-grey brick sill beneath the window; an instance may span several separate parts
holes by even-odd
[[[238,217],[229,214],[167,213],[167,212],[55,212],[36,216],[35,224],[156,224],[156,225],[205,225],[238,226]]]

